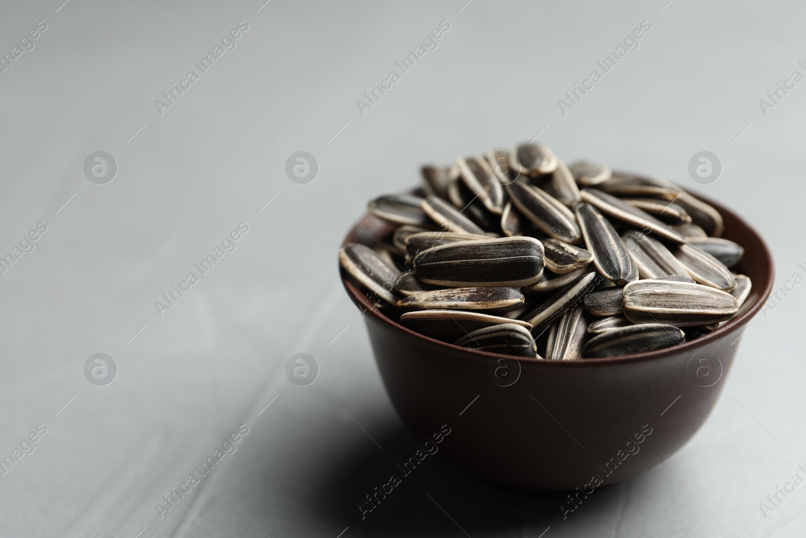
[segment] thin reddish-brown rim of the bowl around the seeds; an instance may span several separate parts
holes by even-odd
[[[641,176],[636,173],[629,173],[623,171],[616,171],[613,170],[614,175],[630,175],[634,177],[646,177]],[[681,187],[682,188],[682,187]],[[770,267],[769,277],[767,278],[767,282],[762,283],[761,293],[758,294],[758,297],[755,299],[754,302],[750,303],[749,306],[745,307],[743,311],[740,311],[737,316],[733,319],[729,319],[725,325],[722,327],[718,327],[712,332],[709,332],[707,335],[700,336],[695,340],[687,340],[683,344],[672,346],[671,348],[663,348],[658,349],[655,351],[645,352],[645,353],[634,353],[632,355],[621,355],[618,357],[599,357],[599,358],[587,358],[587,359],[580,359],[576,361],[552,361],[549,359],[541,358],[541,359],[531,359],[528,357],[515,357],[513,355],[505,355],[503,353],[495,353],[495,352],[488,352],[482,351],[480,349],[473,349],[473,348],[463,348],[462,346],[458,346],[455,344],[451,344],[449,342],[445,342],[442,340],[437,340],[435,338],[431,338],[430,336],[422,335],[419,332],[414,332],[408,327],[404,327],[401,323],[395,322],[393,319],[390,319],[387,315],[383,312],[379,311],[375,305],[370,301],[365,294],[363,294],[358,286],[355,286],[353,282],[347,277],[347,272],[339,266],[339,275],[342,279],[342,284],[344,289],[347,290],[347,294],[350,296],[355,305],[358,307],[364,308],[364,313],[367,312],[369,315],[375,317],[375,319],[379,320],[381,323],[385,323],[389,327],[393,327],[394,330],[398,332],[403,332],[408,336],[413,336],[415,339],[423,340],[430,344],[435,344],[438,347],[445,348],[446,351],[450,350],[452,352],[461,352],[467,355],[468,358],[477,359],[477,360],[497,360],[501,358],[508,359],[510,361],[518,361],[519,363],[523,364],[535,364],[535,365],[542,365],[537,366],[538,368],[546,368],[546,367],[558,367],[558,368],[587,368],[587,367],[595,367],[595,366],[602,366],[602,365],[618,365],[618,364],[634,364],[636,362],[642,361],[654,361],[660,360],[664,357],[670,357],[672,355],[678,355],[680,352],[693,352],[696,351],[697,348],[701,348],[715,340],[719,340],[722,336],[727,336],[732,332],[735,332],[738,327],[741,327],[745,323],[749,322],[750,319],[754,317],[754,315],[758,314],[758,311],[762,309],[764,304],[767,302],[767,298],[770,296],[772,287],[775,284],[775,263],[770,252],[770,248],[767,246],[767,241],[765,241],[762,236],[758,234],[758,231],[754,227],[750,225],[743,219],[741,216],[737,215],[733,211],[729,210],[727,207],[722,206],[718,202],[713,202],[711,199],[699,194],[694,193],[690,190],[686,190],[688,194],[691,194],[695,198],[699,199],[702,202],[707,203],[710,206],[713,206],[717,211],[720,212],[721,215],[729,214],[733,218],[737,219],[738,221],[742,222],[747,229],[750,231],[751,234],[755,236],[755,239],[758,240],[758,244],[761,245],[761,254],[762,260],[758,261],[757,263],[761,265],[768,265]],[[347,239],[351,237],[358,227],[362,227],[361,224],[364,222],[364,219],[367,219],[370,216],[368,213],[364,214],[361,219],[356,221],[355,226],[351,227],[350,230],[347,232],[347,236],[344,237],[341,246],[345,246],[347,244]],[[754,286],[758,286],[756,282],[753,282]],[[744,305],[743,305],[744,306]],[[743,335],[744,333],[742,333]],[[740,335],[740,337],[742,336]],[[733,345],[733,344],[731,344]]]

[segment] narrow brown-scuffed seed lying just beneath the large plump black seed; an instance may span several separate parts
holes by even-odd
[[[450,290],[424,291],[422,294],[401,298],[397,306],[414,310],[471,310],[497,315],[515,310],[524,302],[520,290],[515,288],[451,288]]]

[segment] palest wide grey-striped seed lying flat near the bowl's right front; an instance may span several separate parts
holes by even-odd
[[[624,316],[633,323],[694,327],[726,321],[736,314],[733,295],[690,282],[639,280],[624,286]]]

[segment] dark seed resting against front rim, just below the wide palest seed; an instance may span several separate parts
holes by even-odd
[[[618,357],[646,353],[683,344],[685,335],[677,327],[661,323],[643,323],[600,332],[585,344],[585,358]]]

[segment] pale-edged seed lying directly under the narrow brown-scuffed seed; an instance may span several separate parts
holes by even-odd
[[[519,319],[507,319],[497,315],[481,314],[456,310],[422,310],[401,315],[401,323],[414,332],[419,332],[437,340],[453,342],[459,336],[484,327],[515,323],[531,331],[532,325]]]

